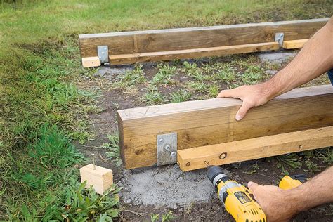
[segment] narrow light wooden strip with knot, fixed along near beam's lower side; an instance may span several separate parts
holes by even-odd
[[[207,145],[187,150],[178,150],[177,161],[182,171],[219,166],[282,155],[290,152],[313,150],[333,145],[333,126],[308,129],[273,136],[250,138],[242,141]],[[220,156],[226,156],[220,159]]]

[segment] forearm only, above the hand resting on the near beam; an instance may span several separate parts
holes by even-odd
[[[294,60],[263,83],[268,100],[305,84],[333,67],[333,16],[296,55]]]

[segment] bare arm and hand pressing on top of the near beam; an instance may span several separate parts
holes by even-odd
[[[263,105],[276,96],[319,77],[332,67],[333,16],[308,40],[294,60],[273,78],[262,84],[223,90],[218,97],[240,98],[243,101],[235,117],[240,120],[250,108]]]

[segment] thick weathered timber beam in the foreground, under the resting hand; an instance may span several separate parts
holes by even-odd
[[[294,89],[235,121],[242,102],[214,98],[118,111],[126,169],[157,163],[157,134],[176,132],[178,150],[333,125],[333,87]]]

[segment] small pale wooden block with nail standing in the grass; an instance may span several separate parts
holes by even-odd
[[[80,169],[80,174],[81,183],[86,181],[86,188],[93,185],[93,188],[99,194],[103,194],[113,183],[112,169],[100,166],[96,166],[96,169],[93,169],[93,164],[89,164]]]

